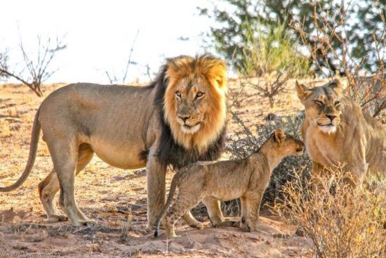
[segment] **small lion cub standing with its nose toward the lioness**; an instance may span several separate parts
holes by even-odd
[[[202,228],[202,224],[192,217],[190,209],[200,201],[207,205],[210,200],[241,200],[240,227],[245,231],[255,231],[262,194],[267,187],[272,170],[283,157],[302,155],[302,141],[276,129],[251,156],[241,160],[219,162],[199,162],[183,167],[175,174],[164,210],[157,219],[154,236],[158,236],[159,224],[166,212],[165,226],[168,238],[175,238],[174,224],[183,217],[190,226]],[[178,197],[168,211],[175,188]],[[211,217],[211,214],[209,214]]]

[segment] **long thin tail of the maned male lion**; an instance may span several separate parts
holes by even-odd
[[[37,150],[37,143],[39,142],[39,136],[40,136],[40,123],[38,120],[39,117],[39,110],[37,110],[35,119],[34,119],[34,125],[32,126],[32,134],[31,134],[31,143],[29,146],[29,155],[28,155],[28,161],[27,165],[25,166],[24,172],[22,172],[22,175],[16,181],[13,183],[12,186],[6,186],[6,187],[0,187],[0,192],[11,192],[18,188],[19,186],[24,183],[25,179],[29,176],[29,174],[32,171],[32,167],[34,166],[35,158],[36,158],[36,150]]]

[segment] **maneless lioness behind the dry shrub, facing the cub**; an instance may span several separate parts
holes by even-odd
[[[352,186],[359,186],[368,171],[385,173],[385,127],[343,95],[338,79],[313,89],[296,82],[296,90],[305,105],[302,138],[312,159],[313,193],[325,168],[345,165],[354,179],[348,181]]]

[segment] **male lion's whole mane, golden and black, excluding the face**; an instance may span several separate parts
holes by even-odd
[[[199,77],[208,83],[210,105],[206,122],[197,134],[184,134],[175,120],[175,85],[184,78]],[[157,157],[164,165],[179,169],[199,160],[216,160],[224,146],[227,93],[226,65],[204,55],[168,59],[153,83],[157,87],[154,105],[161,117],[161,139]]]

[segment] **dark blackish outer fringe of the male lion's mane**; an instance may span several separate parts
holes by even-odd
[[[164,120],[164,96],[166,86],[168,85],[168,80],[166,79],[167,69],[168,67],[164,65],[161,68],[159,77],[152,83],[156,87],[154,105],[159,112],[161,120],[161,140],[157,151],[157,158],[163,165],[171,165],[173,169],[180,169],[197,161],[217,160],[221,155],[225,142],[225,126],[222,128],[218,138],[208,146],[205,153],[200,154],[195,148],[187,150],[175,142],[171,134],[171,128]]]

